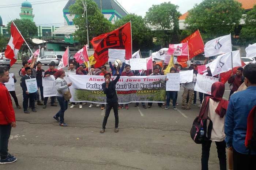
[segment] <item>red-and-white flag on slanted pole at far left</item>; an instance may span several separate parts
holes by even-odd
[[[11,23],[11,38],[4,52],[5,57],[11,59],[11,66],[17,61],[17,54],[23,42],[24,39],[20,35],[18,29]]]

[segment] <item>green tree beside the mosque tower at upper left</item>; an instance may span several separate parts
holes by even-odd
[[[7,24],[8,32],[11,33],[11,23],[9,22]],[[15,25],[19,29],[20,33],[24,37],[24,39],[29,43],[29,38],[33,37],[34,35],[37,35],[37,26],[35,23],[29,19],[15,19],[14,20]]]

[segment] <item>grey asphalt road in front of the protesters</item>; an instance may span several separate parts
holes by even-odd
[[[15,64],[15,91],[22,106],[22,90]],[[48,67],[43,66],[44,69]],[[226,90],[229,90],[226,85]],[[178,103],[181,104],[181,94]],[[227,98],[229,91],[225,91]],[[197,94],[198,96],[198,94]],[[197,97],[198,98],[198,97]],[[14,103],[14,102],[13,102]],[[199,105],[200,102],[197,101]],[[15,106],[15,104],[14,104]],[[0,169],[9,170],[199,170],[201,145],[190,137],[190,129],[199,107],[177,111],[164,110],[156,103],[150,109],[129,104],[129,110],[119,110],[119,132],[114,133],[114,114],[110,113],[106,132],[100,134],[105,110],[82,109],[78,105],[65,112],[68,127],[61,127],[52,118],[60,109],[48,104],[37,106],[36,113],[24,114],[16,109],[17,127],[12,129],[9,152],[18,160]],[[3,107],[3,106],[1,106]],[[213,143],[209,169],[219,169],[216,146]]]

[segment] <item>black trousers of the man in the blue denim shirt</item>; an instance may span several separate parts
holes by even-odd
[[[240,154],[233,148],[234,170],[255,170],[256,155]]]

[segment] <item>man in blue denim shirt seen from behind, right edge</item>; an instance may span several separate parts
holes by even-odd
[[[246,65],[243,73],[248,88],[231,95],[225,118],[225,141],[233,150],[234,170],[256,169],[256,151],[249,155],[245,147],[247,118],[256,105],[256,65]]]

